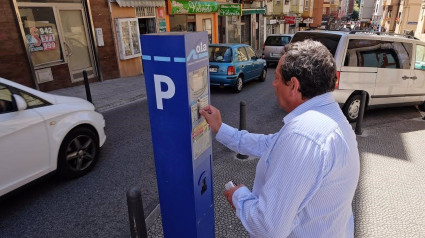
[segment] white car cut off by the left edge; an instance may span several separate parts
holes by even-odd
[[[74,178],[96,164],[105,120],[90,102],[0,78],[0,196],[57,170]]]

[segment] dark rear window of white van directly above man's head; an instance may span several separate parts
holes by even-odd
[[[294,35],[294,38],[292,38],[291,42],[303,41],[305,39],[312,39],[321,42],[335,57],[335,52],[338,48],[341,36],[336,34],[323,34],[316,32],[298,32]]]

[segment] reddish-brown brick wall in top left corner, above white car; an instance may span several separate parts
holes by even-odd
[[[0,16],[0,77],[35,88],[11,1],[0,0]]]

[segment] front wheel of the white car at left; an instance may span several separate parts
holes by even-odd
[[[58,173],[65,178],[82,176],[95,166],[98,155],[96,134],[88,128],[75,128],[65,136],[60,146]]]

